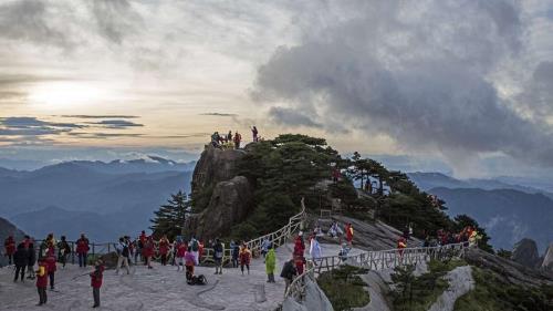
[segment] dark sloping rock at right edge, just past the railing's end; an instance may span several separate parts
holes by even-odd
[[[508,283],[518,286],[553,284],[553,273],[551,272],[531,269],[481,249],[467,249],[465,260],[470,265],[494,271],[499,278]]]

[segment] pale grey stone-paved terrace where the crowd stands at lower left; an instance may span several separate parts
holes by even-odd
[[[323,255],[336,255],[336,245],[322,245]],[[354,250],[361,251],[361,250]],[[104,273],[104,286],[100,310],[274,310],[282,303],[284,281],[279,277],[282,263],[291,258],[291,246],[276,250],[276,283],[267,283],[262,259],[252,260],[250,276],[242,276],[240,269],[225,269],[215,276],[215,268],[196,267],[196,274],[205,274],[207,286],[188,286],[185,273],[176,267],[148,270],[144,266],[132,268],[131,274],[116,276],[115,271]],[[38,302],[34,281],[13,283],[12,268],[0,269],[0,310],[90,310],[93,304],[92,289],[87,276],[92,268],[69,265],[58,268],[56,291],[49,291],[45,307]],[[122,270],[122,273],[124,270]],[[76,278],[75,278],[76,277]]]

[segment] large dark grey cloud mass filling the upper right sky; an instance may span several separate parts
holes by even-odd
[[[253,99],[288,103],[269,111],[283,124],[338,121],[450,158],[502,152],[553,165],[551,127],[510,110],[487,79],[520,51],[512,3],[361,2],[355,18],[276,50],[259,68]],[[295,113],[303,111],[320,113]]]

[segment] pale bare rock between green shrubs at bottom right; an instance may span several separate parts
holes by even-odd
[[[474,289],[474,279],[470,266],[455,268],[446,274],[445,279],[448,280],[449,288],[438,297],[429,311],[453,311],[457,299]]]

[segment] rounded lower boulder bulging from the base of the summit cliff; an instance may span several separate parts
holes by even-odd
[[[253,205],[253,188],[248,178],[237,176],[215,186],[209,205],[185,222],[185,236],[211,239],[228,234],[248,216]]]

